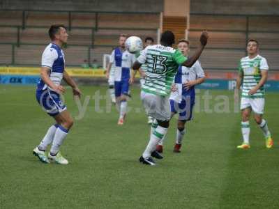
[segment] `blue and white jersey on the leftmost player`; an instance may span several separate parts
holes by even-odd
[[[50,79],[56,85],[61,84],[65,69],[65,56],[63,50],[56,44],[50,43],[45,47],[42,55],[42,67],[50,68]],[[42,79],[38,82],[37,91],[50,88]]]

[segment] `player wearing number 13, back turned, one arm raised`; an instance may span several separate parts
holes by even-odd
[[[138,70],[144,63],[147,71],[144,85],[142,86],[141,98],[144,108],[149,116],[155,120],[151,125],[151,136],[144,153],[140,157],[143,164],[155,165],[152,157],[162,159],[163,156],[156,151],[160,139],[165,137],[171,118],[169,107],[169,93],[179,65],[191,67],[202,54],[207,43],[208,34],[202,32],[200,45],[195,54],[187,59],[178,49],[173,49],[174,33],[165,31],[160,38],[160,45],[146,47],[133,65]],[[152,157],[151,157],[152,156]]]

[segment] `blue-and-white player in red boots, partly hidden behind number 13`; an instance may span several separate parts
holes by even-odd
[[[184,56],[188,56],[190,46],[188,40],[179,40],[178,49]],[[170,94],[169,102],[174,114],[179,114],[176,130],[176,144],[174,145],[174,153],[180,153],[183,136],[186,133],[185,125],[187,121],[192,119],[193,107],[195,104],[195,85],[202,84],[205,80],[204,70],[199,61],[196,61],[191,68],[179,66],[174,77],[174,85]],[[156,147],[158,153],[163,153],[163,140],[161,139]]]

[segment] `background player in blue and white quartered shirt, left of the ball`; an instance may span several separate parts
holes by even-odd
[[[116,104],[119,107],[118,125],[123,125],[127,111],[127,97],[129,95],[129,84],[133,83],[133,77],[130,77],[130,68],[135,61],[135,55],[130,54],[125,48],[127,36],[119,36],[119,47],[112,51],[110,63],[107,66],[107,77],[110,75],[112,65],[114,68],[114,92]],[[109,79],[110,81],[110,79]],[[110,89],[112,89],[110,87]]]

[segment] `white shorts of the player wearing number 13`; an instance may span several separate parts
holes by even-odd
[[[155,95],[142,91],[140,97],[147,116],[151,116],[158,121],[170,120],[171,112],[168,96]]]

